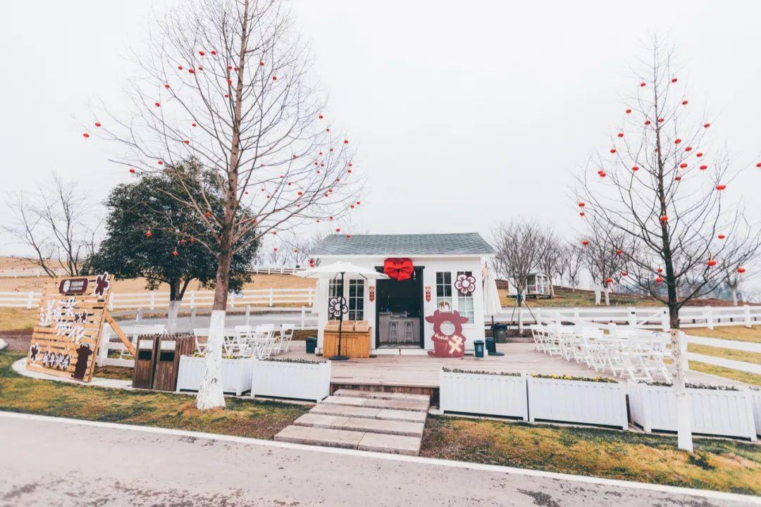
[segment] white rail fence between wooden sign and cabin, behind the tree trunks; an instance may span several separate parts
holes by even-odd
[[[303,289],[247,289],[228,296],[228,309],[245,306],[312,306],[314,287]],[[214,305],[214,291],[189,290],[185,293],[180,309],[203,309]],[[111,293],[108,309],[168,309],[168,292]]]

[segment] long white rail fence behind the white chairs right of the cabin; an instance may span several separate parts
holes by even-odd
[[[679,316],[681,328],[713,329],[719,325],[744,325],[750,328],[761,324],[761,306],[684,306],[680,309]],[[494,317],[494,322],[521,327],[549,321],[614,323],[664,331],[670,328],[668,309],[665,306],[524,306],[520,309],[503,308]],[[491,318],[486,319],[486,325],[491,325]]]

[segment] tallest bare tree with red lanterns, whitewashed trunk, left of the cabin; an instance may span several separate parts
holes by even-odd
[[[358,205],[349,139],[327,119],[308,77],[308,52],[279,0],[196,0],[151,30],[132,116],[106,112],[88,129],[120,142],[130,173],[175,171],[193,157],[212,173],[224,205],[194,189],[170,196],[205,223],[217,262],[199,409],[223,407],[221,344],[233,255],[251,242],[336,223]],[[253,231],[253,233],[252,233]],[[349,240],[349,239],[347,239]]]

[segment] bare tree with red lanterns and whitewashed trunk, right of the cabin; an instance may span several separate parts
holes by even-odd
[[[622,251],[632,275],[623,283],[668,307],[679,446],[691,450],[679,312],[755,258],[759,231],[728,195],[741,169],[709,139],[711,120],[693,111],[672,51],[657,40],[635,87],[610,147],[578,176],[576,198],[594,240]]]

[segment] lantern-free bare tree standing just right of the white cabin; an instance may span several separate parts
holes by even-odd
[[[495,268],[514,284],[518,306],[524,304],[528,275],[539,265],[543,240],[541,228],[523,219],[499,223],[494,230]]]

